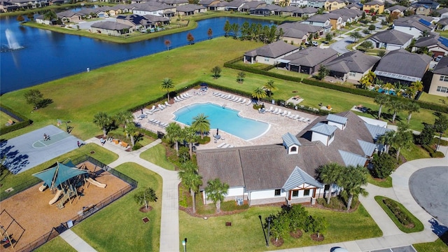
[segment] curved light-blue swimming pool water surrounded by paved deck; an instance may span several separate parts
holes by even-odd
[[[191,125],[193,118],[200,113],[209,116],[210,128],[228,132],[244,140],[251,140],[269,130],[269,124],[244,118],[238,115],[239,111],[216,104],[192,104],[174,112],[174,120],[185,125]],[[216,134],[216,132],[211,132]]]

